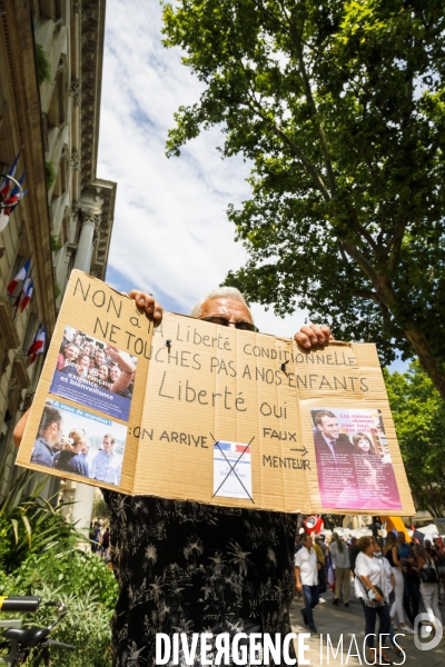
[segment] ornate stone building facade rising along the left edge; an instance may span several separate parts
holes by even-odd
[[[12,430],[30,405],[71,269],[103,279],[115,182],[97,177],[106,0],[0,0],[0,172],[21,148],[26,197],[0,233],[0,498],[17,471]],[[7,286],[31,258],[22,313]],[[55,484],[57,480],[55,480]]]

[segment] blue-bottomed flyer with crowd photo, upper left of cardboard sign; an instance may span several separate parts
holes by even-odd
[[[50,391],[127,421],[136,365],[136,357],[67,326]]]

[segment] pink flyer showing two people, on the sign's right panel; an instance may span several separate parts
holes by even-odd
[[[323,506],[399,509],[382,412],[313,408],[310,416]]]

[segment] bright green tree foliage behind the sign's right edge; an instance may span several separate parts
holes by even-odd
[[[400,375],[385,371],[389,405],[418,509],[445,515],[445,404],[418,361]]]

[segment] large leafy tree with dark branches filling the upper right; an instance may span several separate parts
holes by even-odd
[[[445,398],[445,18],[434,0],[179,0],[167,47],[202,82],[167,155],[219,126],[253,161],[227,282],[278,315],[417,355]]]

